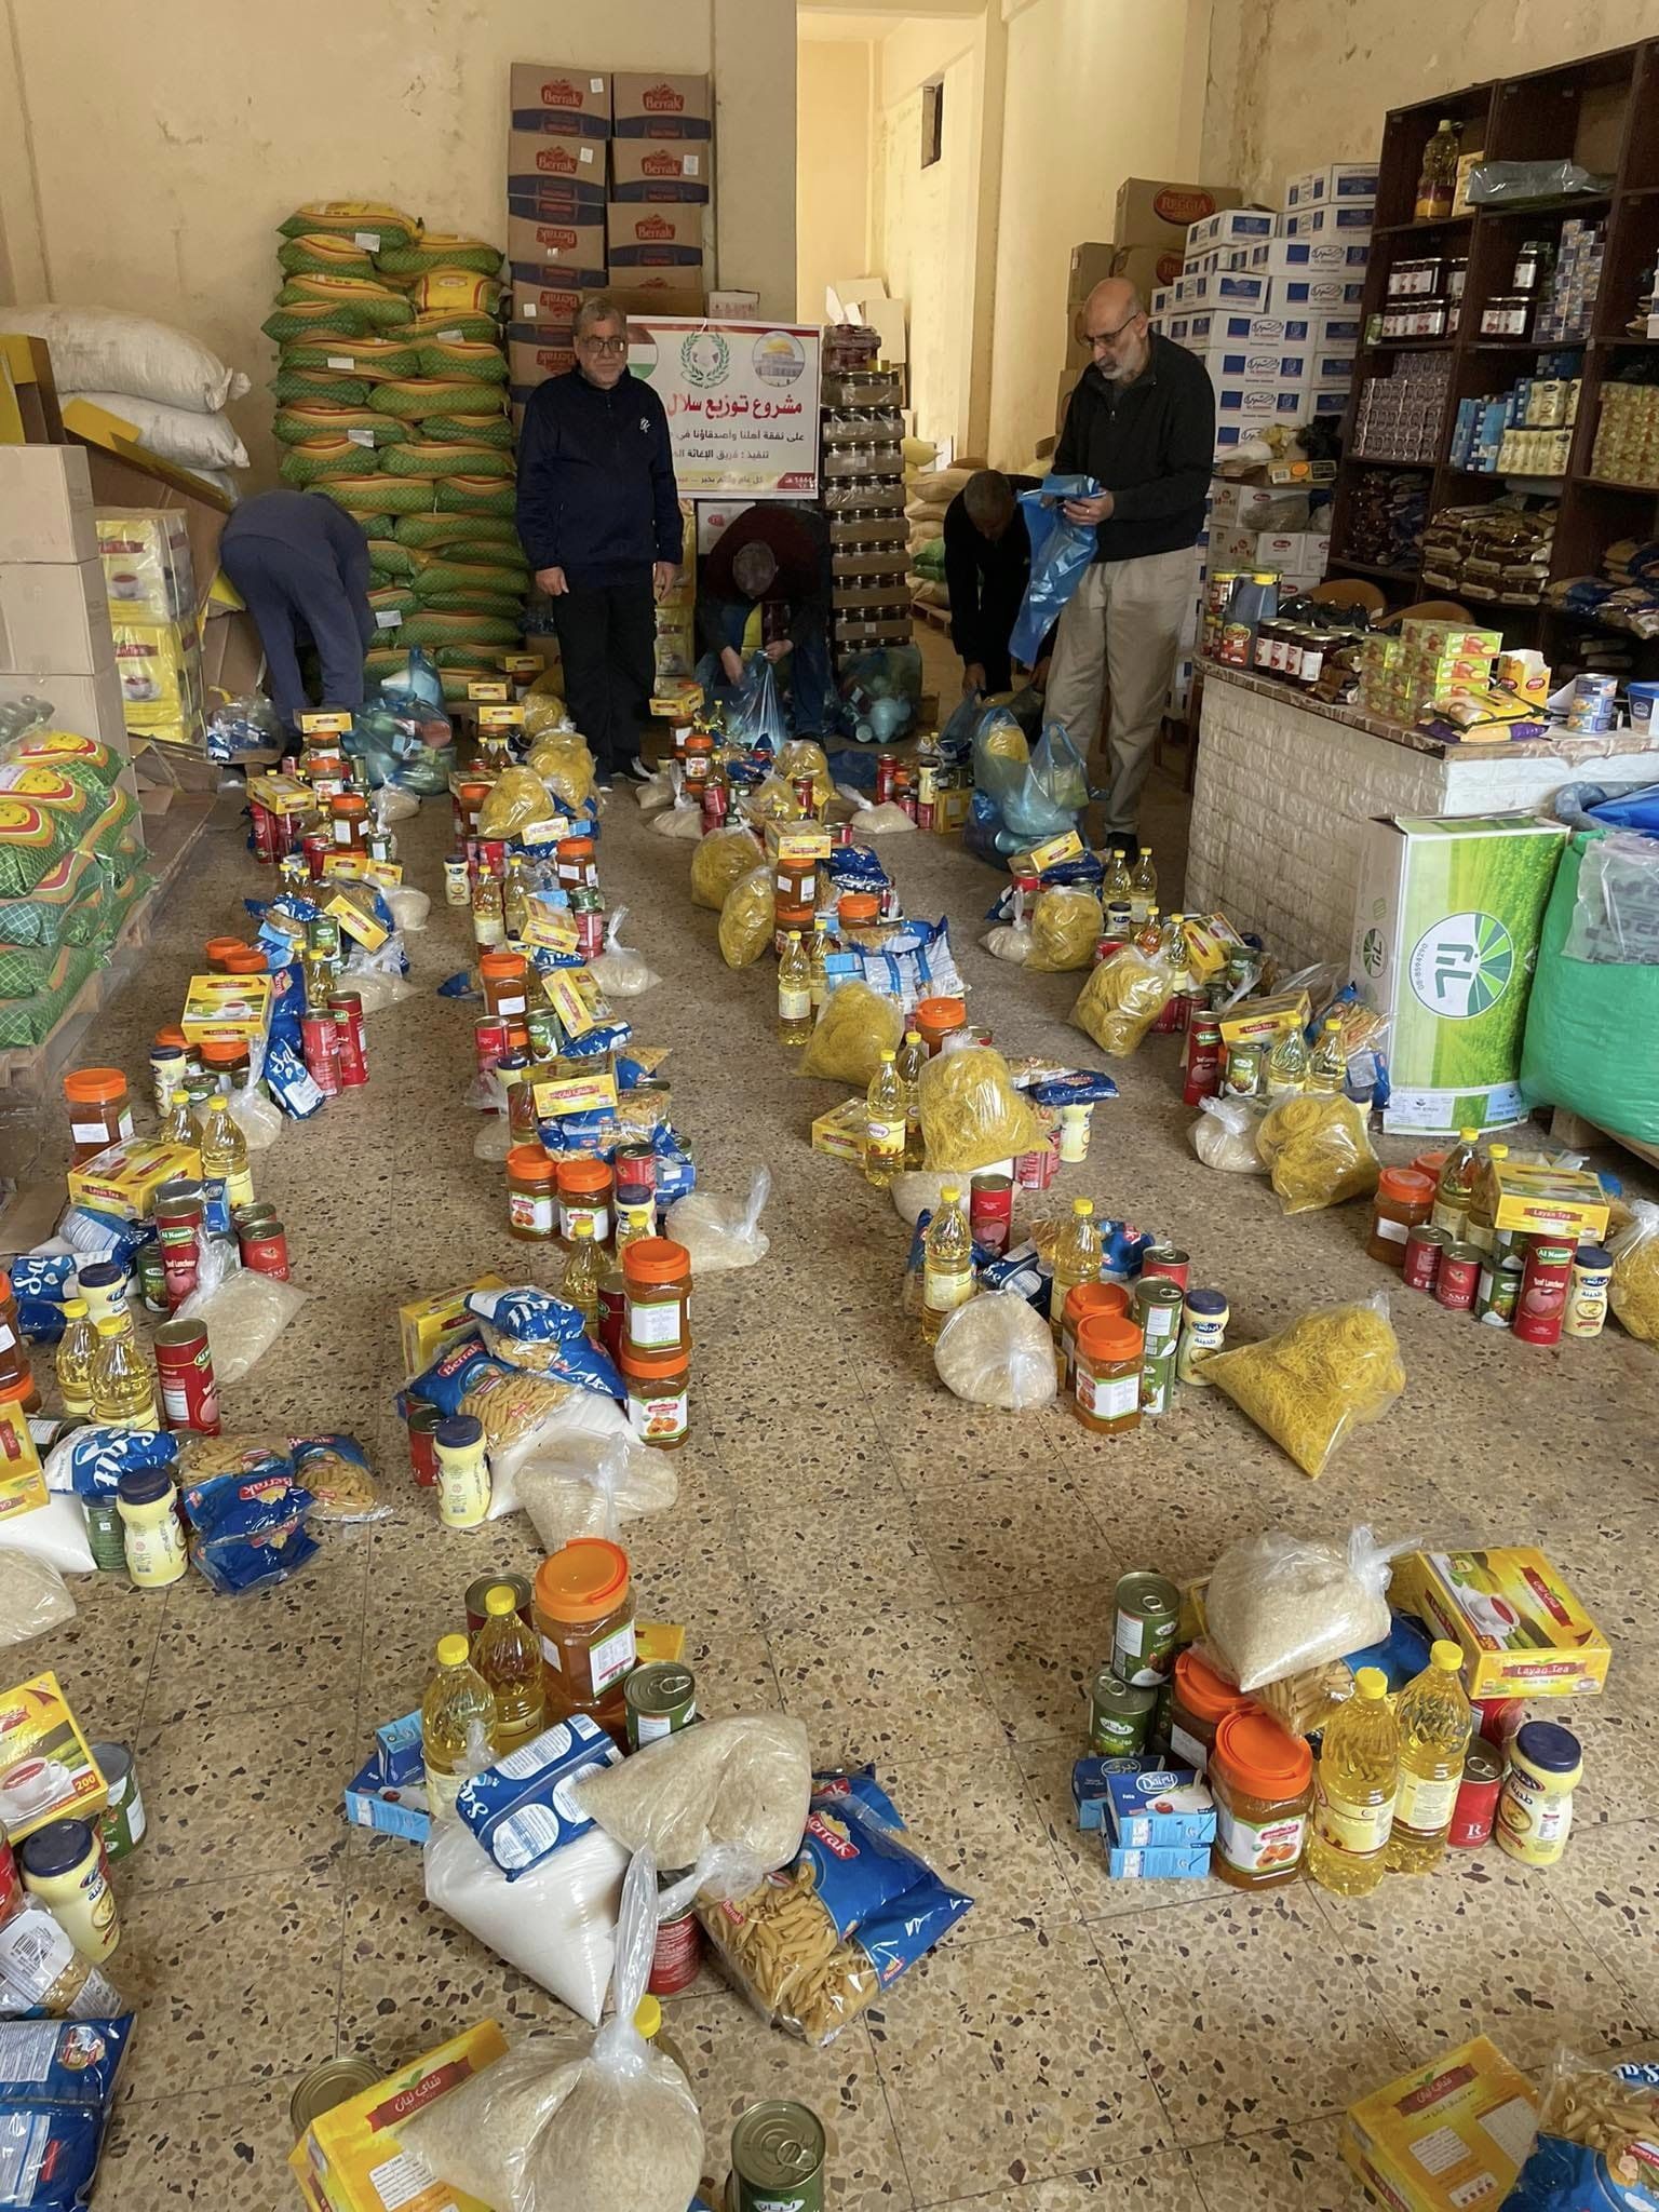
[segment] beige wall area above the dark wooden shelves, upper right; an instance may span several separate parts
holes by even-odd
[[[1659,35],[1659,0],[1270,0],[1217,7],[1203,173],[1276,204],[1376,153],[1389,108]]]

